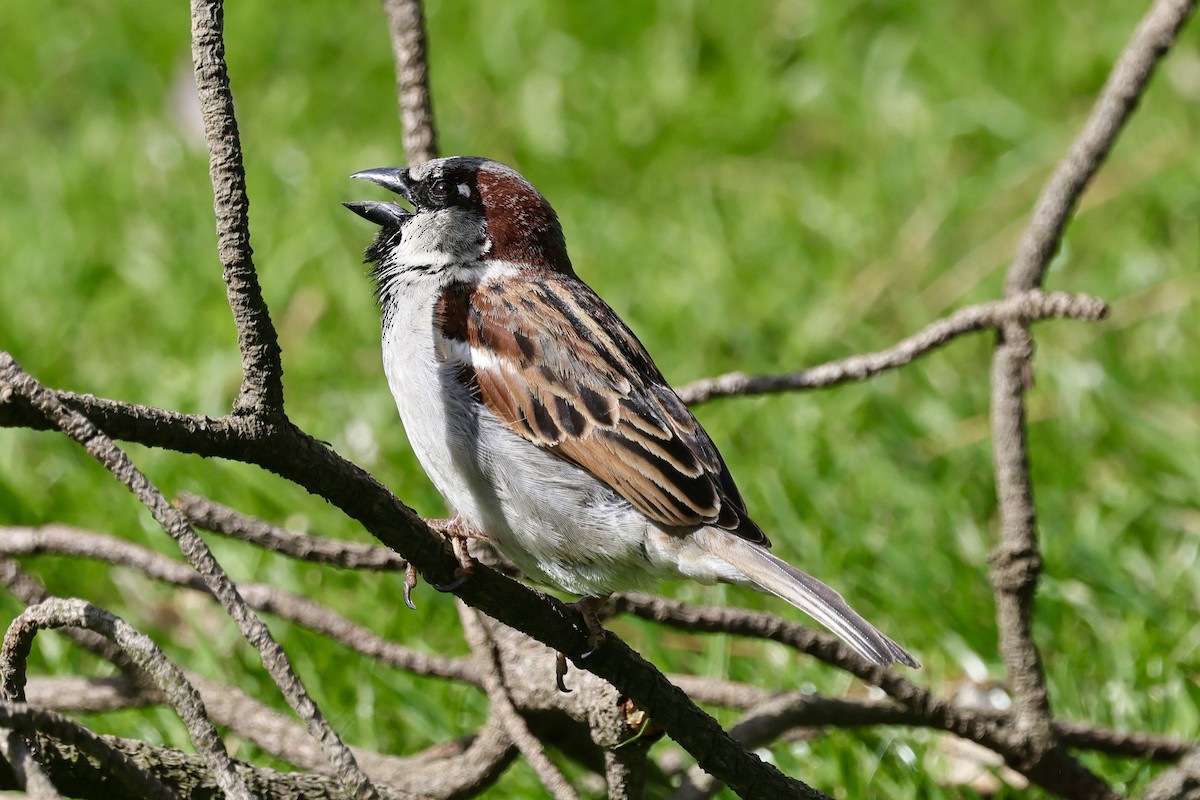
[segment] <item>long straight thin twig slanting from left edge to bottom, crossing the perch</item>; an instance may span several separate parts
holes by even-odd
[[[184,515],[172,506],[157,488],[133,465],[128,456],[112,439],[96,428],[86,417],[59,403],[54,392],[47,390],[20,369],[12,356],[0,351],[0,385],[28,398],[50,419],[64,433],[83,445],[88,453],[103,464],[121,483],[137,497],[154,515],[155,521],[174,539],[192,567],[200,575],[209,591],[221,602],[226,613],[238,624],[242,637],[258,651],[263,666],[276,686],[283,692],[288,704],[295,710],[310,733],[320,741],[338,777],[354,798],[377,798],[371,781],[359,769],[346,742],[330,727],[320,709],[308,696],[283,648],[271,636],[270,630],[246,606],[238,589],[217,564],[204,541],[196,535]]]

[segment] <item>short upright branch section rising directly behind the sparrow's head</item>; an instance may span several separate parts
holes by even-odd
[[[396,95],[409,164],[438,157],[430,96],[430,66],[425,43],[425,12],[420,0],[383,0],[396,58]]]

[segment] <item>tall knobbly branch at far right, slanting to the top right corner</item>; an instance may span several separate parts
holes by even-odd
[[[1006,279],[1006,297],[1039,289],[1079,197],[1099,169],[1145,92],[1154,67],[1194,8],[1194,0],[1159,0],[1139,24],[1110,73],[1092,113],[1034,207]],[[1025,392],[1032,384],[1028,323],[1000,329],[992,356],[992,456],[1001,542],[991,555],[1000,651],[1013,693],[1013,733],[1024,750],[1022,772],[1069,798],[1109,798],[1111,788],[1061,746],[1051,723],[1042,657],[1033,639],[1033,599],[1043,561],[1030,475]],[[1009,759],[1010,764],[1018,765]]]

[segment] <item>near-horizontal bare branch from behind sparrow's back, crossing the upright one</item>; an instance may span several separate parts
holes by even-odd
[[[695,380],[677,390],[689,405],[720,397],[770,395],[805,389],[828,389],[840,384],[874,378],[881,372],[902,367],[948,342],[974,331],[994,330],[1004,324],[1033,323],[1043,319],[1098,320],[1108,317],[1103,300],[1081,294],[1027,291],[1007,300],[995,300],[961,308],[946,319],[926,325],[920,332],[898,342],[887,350],[830,361],[810,369],[778,375],[746,375],[731,372],[716,378]]]

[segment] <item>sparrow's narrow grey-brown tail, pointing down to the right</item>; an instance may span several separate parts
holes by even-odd
[[[836,633],[860,656],[887,667],[900,662],[919,668],[899,644],[884,636],[877,627],[851,608],[836,591],[811,575],[775,558],[763,547],[737,536],[727,536],[720,555],[744,575],[762,591],[768,591],[799,608],[830,631]]]

